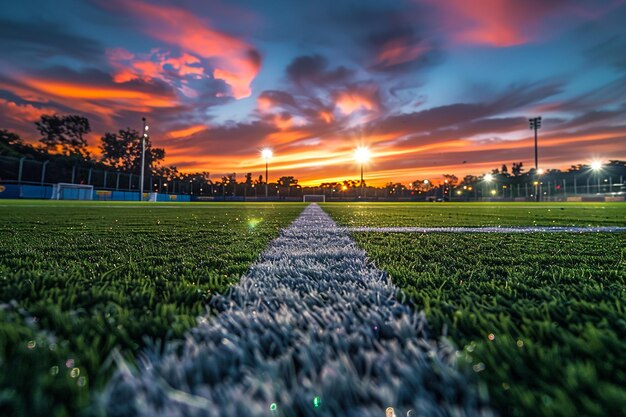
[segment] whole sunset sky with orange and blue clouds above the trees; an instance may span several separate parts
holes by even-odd
[[[28,0],[0,10],[0,128],[141,128],[166,164],[369,184],[626,159],[623,0]]]

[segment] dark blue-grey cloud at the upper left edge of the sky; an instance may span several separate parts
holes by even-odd
[[[55,56],[100,61],[104,47],[99,41],[70,32],[62,24],[0,19],[0,50],[9,62],[17,57]]]

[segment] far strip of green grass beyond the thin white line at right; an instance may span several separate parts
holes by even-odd
[[[344,226],[626,226],[624,203],[326,203]]]

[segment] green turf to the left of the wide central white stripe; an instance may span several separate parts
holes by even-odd
[[[0,202],[0,415],[79,415],[194,326],[302,204]]]

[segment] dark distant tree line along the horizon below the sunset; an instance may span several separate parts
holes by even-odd
[[[86,136],[91,133],[91,126],[86,117],[79,115],[43,115],[35,123],[40,138],[38,143],[31,145],[8,130],[0,130],[0,156],[29,158],[37,161],[53,160],[67,166],[81,165],[101,170],[114,170],[127,174],[139,175],[141,170],[141,135],[132,128],[119,129],[116,132],[105,132],[99,141],[100,156],[95,157],[90,151]],[[175,166],[164,166],[166,152],[163,148],[152,146],[150,137],[146,137],[145,167],[146,175],[159,178],[158,184],[150,184],[149,189],[164,192],[169,182],[177,182],[178,190],[201,195],[213,196],[264,196],[265,182],[263,175],[253,179],[252,173],[246,173],[243,181],[237,180],[237,174],[224,175],[219,179],[211,179],[208,172],[181,173]],[[488,174],[476,176],[466,175],[461,180],[453,174],[443,174],[436,182],[432,179],[415,179],[407,185],[390,181],[383,187],[371,187],[364,184],[366,196],[383,198],[430,198],[450,199],[462,196],[483,197],[486,192],[506,197],[519,196],[520,186],[528,195],[528,186],[553,184],[553,188],[593,185],[601,191],[599,175],[610,178],[611,182],[619,181],[620,185],[626,177],[626,161],[611,160],[602,166],[599,172],[592,170],[590,165],[572,165],[567,171],[548,169],[536,172],[534,168],[525,171],[523,162],[514,162],[511,168],[503,164]],[[0,178],[1,179],[1,178]],[[577,183],[582,181],[582,183]],[[602,183],[605,181],[602,180]],[[507,190],[517,189],[517,195]],[[167,189],[167,188],[166,188]],[[296,197],[305,193],[324,193],[337,197],[354,197],[360,192],[361,184],[357,180],[321,183],[317,187],[301,187],[293,176],[283,176],[268,184],[271,196]],[[167,189],[172,191],[170,187]],[[548,188],[550,190],[550,188]],[[537,192],[535,189],[531,192]]]

